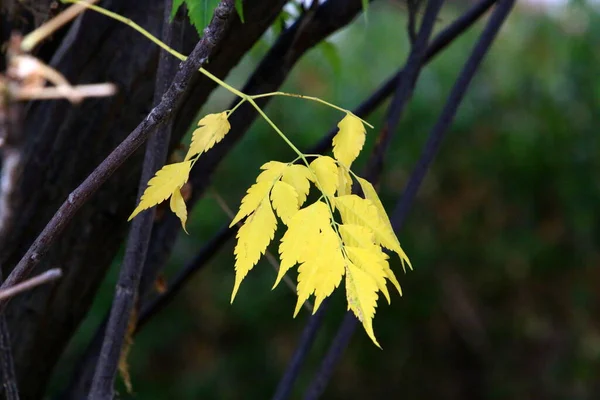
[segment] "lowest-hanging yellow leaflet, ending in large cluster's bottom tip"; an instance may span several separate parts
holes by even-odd
[[[362,322],[367,335],[381,348],[373,332],[373,317],[377,306],[377,283],[366,272],[348,263],[346,267],[346,299],[348,309]]]

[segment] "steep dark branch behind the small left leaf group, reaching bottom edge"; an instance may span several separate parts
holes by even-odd
[[[172,8],[172,0],[165,0],[162,40],[169,47],[178,48],[181,46],[183,39],[183,24],[170,23]],[[167,91],[171,77],[175,74],[176,67],[177,60],[166,51],[162,51],[156,73],[154,104],[160,104],[161,97]],[[166,122],[156,133],[150,135],[148,139],[138,198],[141,197],[146,189],[148,181],[165,164],[171,138],[171,128],[172,124],[170,121]],[[98,358],[94,380],[92,381],[90,399],[108,400],[114,397],[114,381],[117,374],[117,367],[125,342],[125,336],[129,329],[129,321],[135,308],[140,276],[146,260],[146,254],[148,253],[148,244],[150,243],[150,234],[155,215],[156,208],[153,207],[150,210],[142,212],[131,224],[127,247],[125,249],[125,258],[121,266],[121,273],[104,335],[102,350]]]

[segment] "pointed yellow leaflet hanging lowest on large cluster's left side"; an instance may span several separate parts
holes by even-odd
[[[235,246],[235,284],[231,302],[248,272],[256,265],[273,240],[277,220],[268,199],[264,199],[237,233]]]

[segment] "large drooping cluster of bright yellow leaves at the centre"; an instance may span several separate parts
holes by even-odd
[[[273,240],[277,217],[287,226],[281,238],[281,264],[275,286],[295,265],[298,267],[298,301],[294,316],[311,296],[313,312],[345,277],[348,309],[362,322],[379,346],[373,332],[378,292],[388,302],[386,280],[402,294],[383,248],[398,254],[402,265],[410,262],[400,247],[373,186],[357,177],[365,198],[351,194],[349,167],[364,145],[365,129],[352,114],[338,124],[333,155],[319,156],[308,166],[270,161],[242,199],[230,226],[246,217],[237,234],[235,283],[231,301],[248,272]],[[313,183],[322,196],[302,208]],[[342,223],[335,220],[339,212]]]

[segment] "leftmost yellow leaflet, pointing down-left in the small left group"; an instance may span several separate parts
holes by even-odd
[[[192,169],[191,161],[169,164],[162,167],[150,181],[148,187],[142,194],[140,204],[131,213],[127,221],[150,207],[162,203],[173,194],[175,190],[182,187],[188,180]]]

